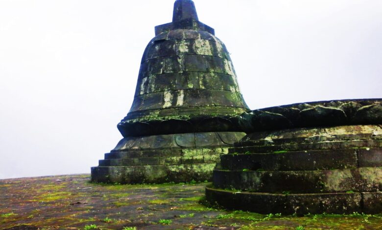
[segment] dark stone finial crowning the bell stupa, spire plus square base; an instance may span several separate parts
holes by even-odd
[[[155,35],[175,29],[192,29],[207,31],[215,35],[215,30],[210,26],[199,22],[195,4],[192,0],[176,0],[172,23],[155,26]]]

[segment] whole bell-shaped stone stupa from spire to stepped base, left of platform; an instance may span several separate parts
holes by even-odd
[[[176,0],[172,23],[155,27],[141,62],[123,136],[92,180],[161,183],[210,180],[219,155],[245,136],[248,111],[224,44],[198,21],[191,0]]]

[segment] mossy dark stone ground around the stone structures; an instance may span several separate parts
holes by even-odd
[[[94,184],[90,175],[0,180],[0,229],[382,229],[382,214],[299,217],[209,207],[206,184]]]

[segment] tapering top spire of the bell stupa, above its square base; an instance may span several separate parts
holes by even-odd
[[[192,0],[176,0],[174,3],[172,22],[182,21],[184,19],[199,21],[195,9],[195,4]]]

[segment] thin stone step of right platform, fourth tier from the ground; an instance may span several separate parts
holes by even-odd
[[[282,145],[258,145],[253,142],[237,142],[234,148],[230,148],[230,153],[271,153],[276,151],[305,151],[319,149],[346,149],[382,147],[382,140],[341,140],[341,141],[321,141],[311,143],[291,143]]]

